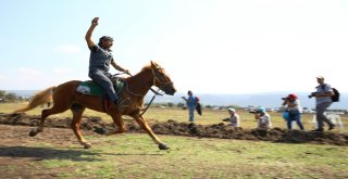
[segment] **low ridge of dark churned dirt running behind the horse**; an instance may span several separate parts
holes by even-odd
[[[50,128],[70,128],[71,118],[48,118],[46,126]],[[39,116],[29,116],[26,114],[9,115],[0,114],[0,124],[11,126],[37,126]],[[127,132],[144,132],[137,124],[126,122]],[[177,123],[175,120],[167,120],[165,123],[150,124],[154,133],[158,135],[174,135],[174,136],[188,136],[198,138],[223,138],[223,139],[240,139],[240,140],[262,140],[272,142],[286,142],[286,143],[316,143],[316,144],[335,144],[348,145],[348,133],[338,132],[311,132],[299,130],[285,130],[274,128],[271,130],[258,129],[241,129],[232,128],[223,123],[216,125],[196,125],[190,123]],[[7,128],[3,126],[2,128]],[[107,130],[113,130],[113,124],[107,124],[99,117],[86,117],[83,119],[82,128],[85,132],[97,132],[103,135]],[[4,129],[10,130],[10,129]],[[13,130],[13,127],[11,127]],[[11,131],[10,130],[10,131]],[[13,133],[13,132],[9,132]],[[15,133],[17,135],[17,133]],[[12,137],[13,139],[21,139],[27,137],[28,132],[23,136]],[[71,141],[76,141],[75,137],[71,135],[59,135],[62,138],[73,138]],[[45,138],[45,136],[41,136]],[[46,139],[45,139],[46,140]]]

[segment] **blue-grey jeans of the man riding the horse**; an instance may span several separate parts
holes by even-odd
[[[108,94],[112,102],[117,102],[119,97],[111,81],[111,74],[102,71],[89,72],[88,75],[96,84],[98,84]]]

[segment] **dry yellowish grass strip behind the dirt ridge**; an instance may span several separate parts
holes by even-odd
[[[0,112],[2,113],[11,113],[15,108],[23,107],[25,103],[0,103]],[[26,112],[29,115],[40,115],[41,108],[37,107],[32,111]],[[240,116],[240,125],[243,128],[250,129],[256,128],[257,123],[253,119],[253,115],[245,112],[243,110],[237,111],[237,113]],[[272,125],[273,127],[279,127],[279,128],[286,128],[286,123],[282,117],[282,113],[277,112],[270,112],[270,115],[272,117]],[[61,114],[52,115],[53,117],[72,117],[72,114],[70,111],[66,111]],[[84,116],[99,116],[104,122],[112,122],[111,117],[104,113],[95,112],[91,110],[86,110],[84,113]],[[313,123],[313,114],[302,114],[302,123],[304,125],[306,130],[312,130],[314,128]],[[188,112],[184,111],[179,107],[149,107],[149,110],[145,113],[144,117],[151,123],[152,120],[158,122],[166,122],[169,119],[174,119],[176,122],[188,122]],[[228,113],[227,111],[214,111],[211,108],[203,108],[203,115],[199,116],[196,114],[195,119],[197,124],[200,125],[211,125],[211,124],[219,124],[222,123],[222,119],[227,118]],[[348,115],[340,115],[341,120],[344,123],[344,126],[346,128],[339,128],[335,129],[335,131],[338,132],[348,132]],[[125,119],[132,119],[127,116],[124,116]],[[297,126],[296,126],[297,127]],[[298,128],[298,127],[297,127]]]

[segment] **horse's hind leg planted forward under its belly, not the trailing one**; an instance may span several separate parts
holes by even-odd
[[[71,127],[72,127],[77,140],[79,141],[79,143],[82,145],[84,145],[86,149],[89,149],[89,148],[91,148],[91,144],[86,141],[86,139],[83,137],[83,135],[80,133],[80,130],[79,130],[80,119],[83,117],[85,110],[86,110],[86,107],[83,105],[79,105],[79,104],[73,104],[71,106],[71,111],[73,112],[73,122],[71,124]]]

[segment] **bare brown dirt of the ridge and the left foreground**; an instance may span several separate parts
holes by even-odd
[[[28,131],[39,122],[39,116],[29,116],[26,114],[1,114],[0,113],[0,166],[17,166],[21,170],[1,170],[0,178],[55,178],[54,171],[34,166],[33,161],[42,161],[61,156],[72,156],[74,150],[67,150],[62,155],[61,150],[50,148],[36,150],[26,148],[35,145],[37,141],[46,141],[62,148],[76,144],[77,140],[70,129],[71,118],[48,118],[46,122],[46,131],[28,138]],[[126,120],[127,132],[144,132],[133,120]],[[165,123],[151,122],[150,126],[158,135],[176,135],[198,138],[224,138],[240,140],[263,140],[271,142],[286,143],[316,143],[348,145],[348,133],[338,132],[310,132],[299,130],[284,130],[274,128],[272,130],[241,129],[232,128],[223,123],[216,125],[201,126],[190,123],[177,123],[167,120]],[[100,136],[108,130],[113,130],[113,124],[107,124],[99,117],[83,118],[82,128],[85,135]],[[21,143],[21,145],[18,145]],[[71,152],[71,153],[70,153]],[[77,154],[78,155],[78,154]],[[11,157],[9,157],[11,156]],[[17,176],[17,177],[16,177]]]

